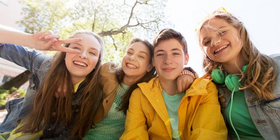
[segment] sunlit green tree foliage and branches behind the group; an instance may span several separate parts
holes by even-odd
[[[166,20],[166,0],[21,0],[26,6],[18,21],[25,32],[53,30],[62,39],[76,30],[102,33],[106,48],[103,61],[120,64],[133,37],[152,41],[156,33],[173,27]]]

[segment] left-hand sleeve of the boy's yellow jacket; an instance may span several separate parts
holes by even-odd
[[[125,131],[120,140],[149,139],[146,125],[146,117],[142,110],[140,88],[135,89],[129,100],[129,108],[126,112]]]

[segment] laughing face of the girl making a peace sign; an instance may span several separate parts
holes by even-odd
[[[85,78],[96,66],[101,45],[91,34],[79,33],[73,36],[81,37],[82,41],[71,43],[69,48],[81,51],[80,54],[66,53],[65,64],[71,75],[73,84]]]

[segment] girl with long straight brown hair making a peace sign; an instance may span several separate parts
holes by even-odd
[[[9,30],[1,31],[14,37]],[[44,32],[34,35],[21,34],[34,40]],[[21,35],[18,35],[18,38],[20,37]],[[75,32],[70,38],[82,38],[82,41],[52,39],[39,43],[39,48],[44,45],[54,48],[66,43],[65,47],[70,49],[64,51],[76,52],[58,52],[53,58],[36,51],[28,51],[22,46],[0,44],[2,58],[34,72],[30,76],[26,96],[6,104],[8,114],[0,126],[0,131],[5,132],[1,134],[3,137],[19,140],[82,139],[94,125],[94,113],[102,98],[99,74],[103,41],[100,36],[90,31]],[[1,42],[26,44],[26,40],[20,40],[23,40],[22,43],[18,40]],[[72,43],[75,41],[80,42]],[[66,97],[55,98],[54,93],[63,82],[66,82]]]

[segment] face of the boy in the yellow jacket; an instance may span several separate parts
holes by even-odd
[[[188,61],[189,55],[176,39],[163,40],[154,47],[153,65],[162,80],[175,80]]]

